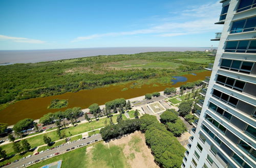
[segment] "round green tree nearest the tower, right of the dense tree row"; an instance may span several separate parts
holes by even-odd
[[[166,123],[167,129],[174,134],[174,136],[178,137],[183,132],[187,130],[185,124],[181,119],[176,120],[175,123]]]

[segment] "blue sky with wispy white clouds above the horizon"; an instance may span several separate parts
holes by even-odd
[[[217,0],[0,0],[0,50],[209,47]]]

